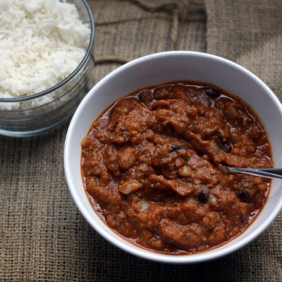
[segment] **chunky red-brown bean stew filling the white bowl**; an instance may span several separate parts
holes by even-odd
[[[270,181],[218,167],[272,167],[266,133],[239,98],[174,82],[118,99],[82,140],[82,174],[96,212],[149,250],[206,251],[243,232]]]

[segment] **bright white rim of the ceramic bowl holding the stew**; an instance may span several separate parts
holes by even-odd
[[[140,248],[138,246],[135,246],[131,243],[128,243],[128,241],[126,241],[126,239],[123,239],[122,236],[119,236],[117,234],[115,234],[114,232],[108,232],[103,228],[100,228],[101,226],[95,222],[95,220],[92,219],[92,215],[86,210],[86,208],[84,207],[84,203],[82,202],[82,200],[79,199],[79,194],[78,190],[76,190],[76,188],[74,187],[74,185],[71,182],[71,173],[70,173],[70,147],[71,147],[71,138],[72,135],[75,134],[74,132],[74,126],[76,123],[76,119],[78,118],[78,116],[81,114],[80,111],[81,109],[84,108],[84,105],[88,103],[89,99],[92,99],[93,96],[95,96],[95,92],[96,89],[100,88],[101,86],[103,86],[105,83],[107,83],[107,80],[111,79],[112,76],[115,76],[117,73],[122,72],[123,70],[127,69],[127,68],[131,68],[131,66],[138,64],[138,63],[142,63],[144,61],[150,60],[152,58],[159,58],[159,57],[165,57],[165,56],[178,56],[178,55],[185,55],[185,56],[194,56],[194,57],[204,57],[207,59],[213,59],[215,61],[221,61],[224,64],[229,65],[230,67],[233,68],[237,68],[238,70],[240,70],[241,72],[244,72],[244,74],[250,76],[252,79],[254,79],[256,81],[256,83],[260,84],[261,87],[264,88],[264,90],[268,93],[268,95],[270,96],[270,98],[272,98],[275,102],[275,104],[277,104],[278,108],[280,109],[281,112],[281,116],[282,116],[282,105],[279,102],[279,99],[275,96],[275,94],[271,91],[271,89],[261,80],[259,79],[256,75],[254,75],[252,72],[250,72],[249,70],[247,70],[246,68],[226,59],[220,56],[216,56],[216,55],[212,55],[212,54],[208,54],[208,53],[203,53],[203,52],[195,52],[195,51],[166,51],[166,52],[160,52],[160,53],[154,53],[154,54],[150,54],[150,55],[146,55],[143,57],[139,57],[137,59],[134,59],[133,61],[118,67],[117,69],[113,70],[112,72],[110,72],[108,75],[106,75],[104,78],[102,78],[89,92],[88,94],[84,97],[84,99],[82,100],[82,102],[79,104],[78,108],[76,109],[73,118],[70,122],[69,128],[68,128],[68,132],[66,135],[66,140],[65,140],[65,149],[64,149],[64,165],[65,165],[65,174],[66,174],[66,180],[67,180],[67,184],[70,190],[70,193],[72,195],[72,198],[74,200],[74,203],[76,204],[76,206],[78,207],[79,211],[82,213],[82,215],[84,216],[84,218],[88,221],[88,223],[94,228],[94,230],[102,235],[105,239],[107,239],[110,243],[112,243],[114,246],[118,247],[119,249],[122,249],[130,254],[136,255],[138,257],[141,258],[145,258],[148,260],[152,260],[152,261],[157,261],[159,263],[171,263],[171,264],[192,264],[192,263],[200,263],[203,261],[208,261],[211,259],[215,259],[218,257],[222,257],[225,255],[228,255],[242,247],[244,247],[245,245],[247,245],[248,243],[250,243],[250,241],[252,241],[254,238],[256,238],[260,233],[262,233],[274,220],[274,218],[277,216],[277,214],[279,213],[280,209],[282,208],[282,201],[280,201],[279,204],[276,205],[276,207],[273,209],[271,215],[269,217],[266,218],[266,220],[264,221],[263,224],[261,224],[257,229],[255,229],[251,234],[249,234],[248,236],[246,236],[245,238],[242,238],[238,241],[236,241],[235,244],[228,246],[228,243],[223,244],[222,246],[227,246],[224,249],[220,249],[220,246],[217,246],[214,249],[208,250],[206,252],[202,252],[202,253],[197,253],[197,254],[191,254],[191,255],[173,255],[173,254],[163,254],[163,253],[156,253],[156,252],[152,252],[152,251],[148,251],[146,249]],[[80,144],[80,143],[79,143]],[[85,192],[85,191],[84,191]],[[89,203],[90,205],[90,203]],[[93,211],[95,212],[95,211]],[[258,215],[259,216],[259,215]],[[101,219],[100,219],[101,220]],[[103,223],[103,221],[101,220],[101,223],[105,225],[105,223]],[[108,227],[107,225],[105,225],[110,231],[111,228]],[[122,238],[117,239],[118,238]],[[239,236],[234,237],[234,239],[238,238]],[[232,240],[231,240],[232,241]]]

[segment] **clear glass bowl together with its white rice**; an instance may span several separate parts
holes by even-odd
[[[63,124],[94,85],[94,18],[86,0],[0,2],[0,134]]]

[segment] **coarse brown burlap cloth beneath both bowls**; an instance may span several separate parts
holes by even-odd
[[[139,56],[194,50],[232,59],[282,97],[280,0],[89,4],[96,22],[96,81]],[[30,138],[0,137],[1,280],[282,281],[281,213],[248,246],[202,264],[152,263],[107,243],[69,194],[63,169],[67,128]]]

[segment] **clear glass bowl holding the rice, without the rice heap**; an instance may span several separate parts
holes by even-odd
[[[94,85],[94,18],[86,0],[70,0],[80,19],[91,29],[86,54],[78,67],[62,82],[43,92],[18,98],[0,98],[0,134],[41,134],[69,119],[82,98]]]

